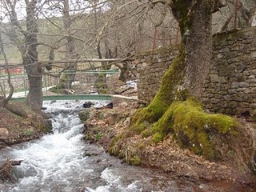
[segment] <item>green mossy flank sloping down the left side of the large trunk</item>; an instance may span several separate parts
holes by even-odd
[[[174,100],[180,99],[181,94],[178,92],[178,87],[182,85],[184,78],[184,60],[185,48],[181,45],[174,62],[162,78],[160,89],[158,90],[158,94],[154,97],[153,102],[134,114],[130,126],[130,130],[134,130],[134,133],[140,134],[143,130],[148,128],[148,123],[152,124],[158,122],[158,119],[162,117],[170,104],[174,102]]]

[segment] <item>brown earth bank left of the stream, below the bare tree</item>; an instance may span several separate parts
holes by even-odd
[[[23,111],[26,118],[13,114],[6,108],[0,108],[0,149],[39,138],[50,130],[48,121],[35,114],[25,103],[13,102],[10,105]]]

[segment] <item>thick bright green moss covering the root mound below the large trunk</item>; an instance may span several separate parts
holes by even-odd
[[[234,130],[238,122],[223,114],[206,114],[201,105],[194,99],[185,102],[174,102],[166,113],[154,124],[153,142],[160,142],[167,134],[174,134],[178,143],[195,154],[205,158],[217,158],[211,135],[237,134]]]

